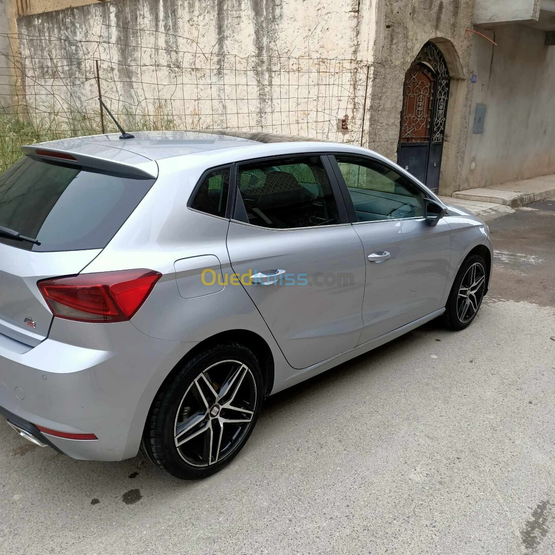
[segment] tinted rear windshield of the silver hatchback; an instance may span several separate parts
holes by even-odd
[[[37,239],[0,243],[33,251],[103,249],[154,179],[24,156],[0,174],[0,226]]]

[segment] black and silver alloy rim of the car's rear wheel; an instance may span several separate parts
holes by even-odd
[[[174,441],[190,465],[221,461],[253,420],[256,382],[248,366],[225,360],[209,366],[188,387],[175,417]]]

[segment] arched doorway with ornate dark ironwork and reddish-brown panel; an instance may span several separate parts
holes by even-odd
[[[427,42],[405,74],[397,163],[433,191],[440,184],[450,75],[442,53]]]

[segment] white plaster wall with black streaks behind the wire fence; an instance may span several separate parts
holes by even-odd
[[[284,118],[291,117],[307,122],[304,128],[293,125],[292,133],[326,137],[335,136],[337,115],[349,115],[350,128],[360,129],[366,75],[362,64],[372,61],[375,6],[374,0],[118,0],[21,17],[18,27],[24,35],[77,41],[27,40],[22,46],[26,68],[42,59],[48,77],[73,84],[71,90],[57,85],[54,104],[60,113],[68,103],[94,98],[94,68],[80,60],[98,57],[103,60],[103,88],[108,89],[104,94],[119,106],[116,110],[142,103],[152,113],[164,104],[172,113],[188,114],[181,122],[184,127],[199,122],[209,127],[206,118],[194,122],[189,116],[213,112],[216,127],[279,132],[284,132]],[[45,49],[55,63],[44,57]],[[329,60],[327,65],[322,59]],[[339,67],[335,59],[361,63],[347,61],[341,66],[348,67],[346,72],[341,74],[340,68],[334,74]],[[75,76],[85,74],[88,84],[76,85]],[[300,79],[296,89],[291,85],[295,79]],[[45,90],[33,89],[28,97],[33,102],[43,98],[46,108],[53,102]],[[247,92],[260,102],[246,103]],[[291,94],[293,105],[276,100]],[[199,102],[191,108],[195,98]],[[230,119],[233,110],[240,114]],[[324,113],[332,115],[322,123]],[[356,134],[347,133],[344,139],[355,140]]]

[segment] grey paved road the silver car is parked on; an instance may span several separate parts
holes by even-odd
[[[271,398],[207,480],[0,423],[0,553],[555,553],[555,200],[490,227],[470,328],[432,322]]]

